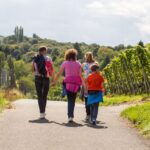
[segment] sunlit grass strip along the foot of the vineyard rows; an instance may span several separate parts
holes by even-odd
[[[120,105],[123,103],[136,103],[141,101],[148,101],[150,97],[146,95],[115,95],[115,96],[104,96],[104,103],[103,106],[113,106],[113,105]]]

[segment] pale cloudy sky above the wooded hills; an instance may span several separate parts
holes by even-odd
[[[150,0],[0,0],[0,35],[22,26],[60,42],[150,42]]]

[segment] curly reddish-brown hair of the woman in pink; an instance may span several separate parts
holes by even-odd
[[[70,60],[73,60],[73,61],[76,61],[77,60],[77,54],[78,54],[78,52],[77,52],[77,50],[76,49],[68,49],[68,50],[66,50],[66,52],[65,52],[65,60],[68,60],[68,61],[70,61]]]

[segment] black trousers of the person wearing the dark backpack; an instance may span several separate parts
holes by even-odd
[[[35,77],[35,87],[38,96],[40,113],[45,113],[49,84],[50,84],[49,78],[43,78],[38,76]]]

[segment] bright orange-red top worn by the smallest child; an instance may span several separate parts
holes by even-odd
[[[88,90],[103,91],[104,78],[99,72],[91,73],[87,78]]]

